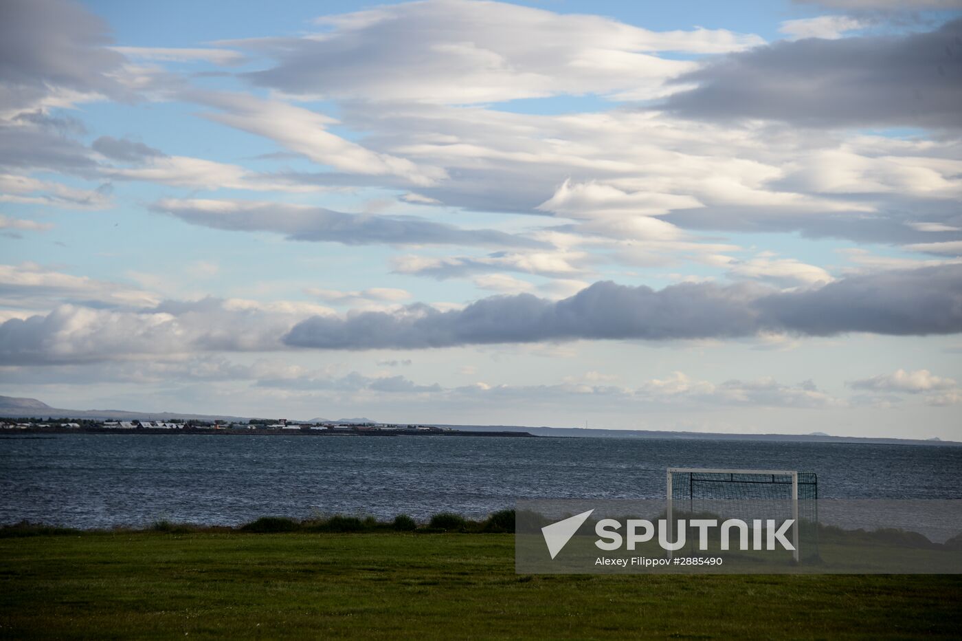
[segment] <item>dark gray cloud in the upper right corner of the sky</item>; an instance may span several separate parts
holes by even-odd
[[[676,115],[810,126],[962,126],[962,19],[903,37],[802,39],[722,57],[676,79]]]

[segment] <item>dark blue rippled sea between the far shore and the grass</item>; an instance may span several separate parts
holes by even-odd
[[[819,474],[837,499],[962,499],[962,448],[662,439],[69,434],[0,438],[0,523],[236,525],[519,499],[654,499],[669,467]]]

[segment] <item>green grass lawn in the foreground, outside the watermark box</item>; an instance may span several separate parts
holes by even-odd
[[[952,576],[518,576],[482,533],[0,539],[0,637],[959,638]]]

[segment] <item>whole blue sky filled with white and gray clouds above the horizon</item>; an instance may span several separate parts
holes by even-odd
[[[0,4],[0,394],[962,440],[962,1]]]

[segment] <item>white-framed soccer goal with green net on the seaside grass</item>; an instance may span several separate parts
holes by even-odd
[[[679,513],[688,518],[741,519],[748,524],[757,519],[763,523],[792,519],[793,559],[818,557],[819,481],[815,473],[669,468],[667,483],[670,528]]]

